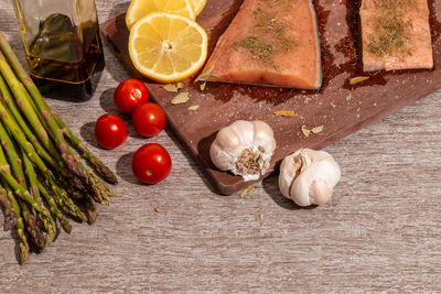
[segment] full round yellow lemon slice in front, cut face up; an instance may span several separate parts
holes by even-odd
[[[196,22],[152,12],[131,29],[129,54],[142,75],[173,83],[190,77],[204,65],[207,44],[207,34]]]

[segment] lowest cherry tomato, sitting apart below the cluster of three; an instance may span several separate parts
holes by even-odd
[[[172,159],[162,145],[149,143],[135,153],[131,168],[141,182],[157,184],[170,174]]]

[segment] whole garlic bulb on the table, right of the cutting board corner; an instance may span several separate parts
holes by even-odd
[[[301,149],[280,165],[279,189],[299,206],[323,205],[331,200],[341,171],[325,151]]]

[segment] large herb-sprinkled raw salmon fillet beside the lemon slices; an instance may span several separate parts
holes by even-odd
[[[320,88],[320,42],[312,1],[244,0],[201,79]]]

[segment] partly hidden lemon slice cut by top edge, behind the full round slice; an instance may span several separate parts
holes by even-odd
[[[130,30],[138,20],[157,11],[196,18],[191,0],[132,0],[126,14],[127,28]]]

